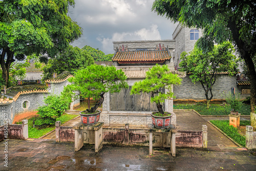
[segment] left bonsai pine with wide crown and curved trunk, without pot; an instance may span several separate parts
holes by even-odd
[[[63,99],[72,101],[77,96],[93,98],[96,103],[88,113],[94,113],[104,101],[104,94],[107,92],[120,92],[122,88],[129,88],[126,75],[122,70],[115,67],[91,65],[86,69],[78,70],[75,76],[68,80],[72,82],[61,92]]]

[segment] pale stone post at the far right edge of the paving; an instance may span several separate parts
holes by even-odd
[[[246,144],[247,149],[256,149],[256,132],[253,132],[253,127],[246,126]]]

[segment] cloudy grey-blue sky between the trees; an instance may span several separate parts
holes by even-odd
[[[172,39],[177,24],[151,11],[154,0],[75,0],[69,15],[83,29],[72,45],[114,53],[113,41]]]

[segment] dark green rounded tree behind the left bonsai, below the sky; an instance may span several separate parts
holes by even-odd
[[[69,46],[54,59],[49,59],[47,65],[42,69],[44,71],[43,80],[52,77],[53,73],[61,74],[69,71],[74,74],[79,69],[84,69],[94,63],[92,56],[86,50],[78,47]]]

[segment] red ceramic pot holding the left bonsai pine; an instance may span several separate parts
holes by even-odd
[[[82,112],[79,112],[79,114],[81,116],[81,121],[83,125],[88,126],[95,125],[96,123],[98,123],[101,111],[95,111],[95,114],[82,114]]]

